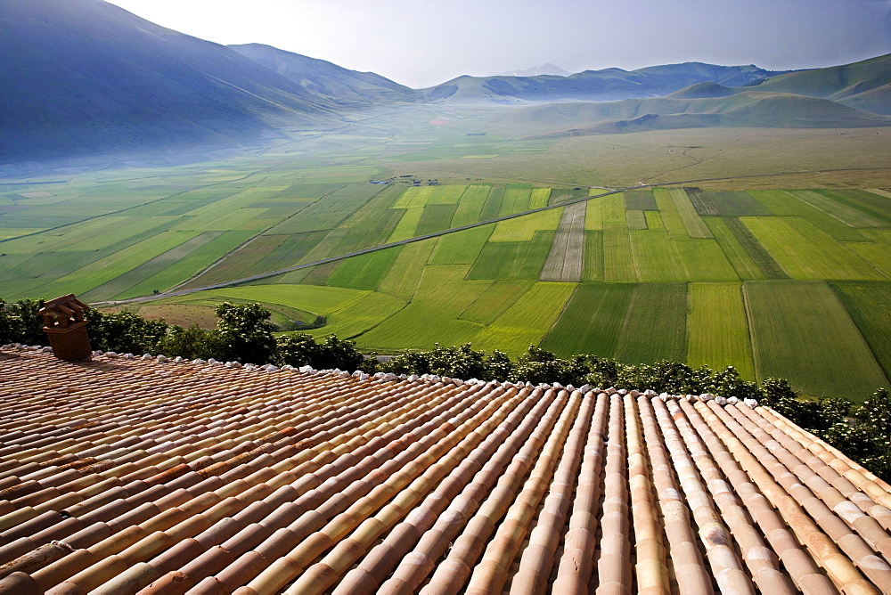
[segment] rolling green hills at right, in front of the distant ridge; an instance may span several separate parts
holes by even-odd
[[[757,86],[698,83],[664,97],[550,103],[517,108],[495,119],[538,126],[543,130],[538,135],[550,137],[704,126],[891,126],[888,80],[891,54],[784,74]],[[855,93],[864,87],[868,90]]]

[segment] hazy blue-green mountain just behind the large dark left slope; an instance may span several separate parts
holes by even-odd
[[[329,61],[285,52],[262,44],[229,45],[230,49],[274,70],[308,91],[356,106],[374,102],[418,102],[424,96],[373,72],[345,69]]]

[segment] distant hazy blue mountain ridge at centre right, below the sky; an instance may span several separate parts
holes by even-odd
[[[756,66],[715,66],[702,62],[666,64],[637,70],[584,70],[568,77],[470,77],[454,78],[423,91],[433,99],[450,103],[611,102],[621,99],[659,97],[698,83],[723,86],[754,85],[777,72]]]

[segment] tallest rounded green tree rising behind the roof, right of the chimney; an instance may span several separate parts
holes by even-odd
[[[267,363],[275,352],[272,314],[259,304],[217,306],[217,335],[221,360],[241,363]]]

